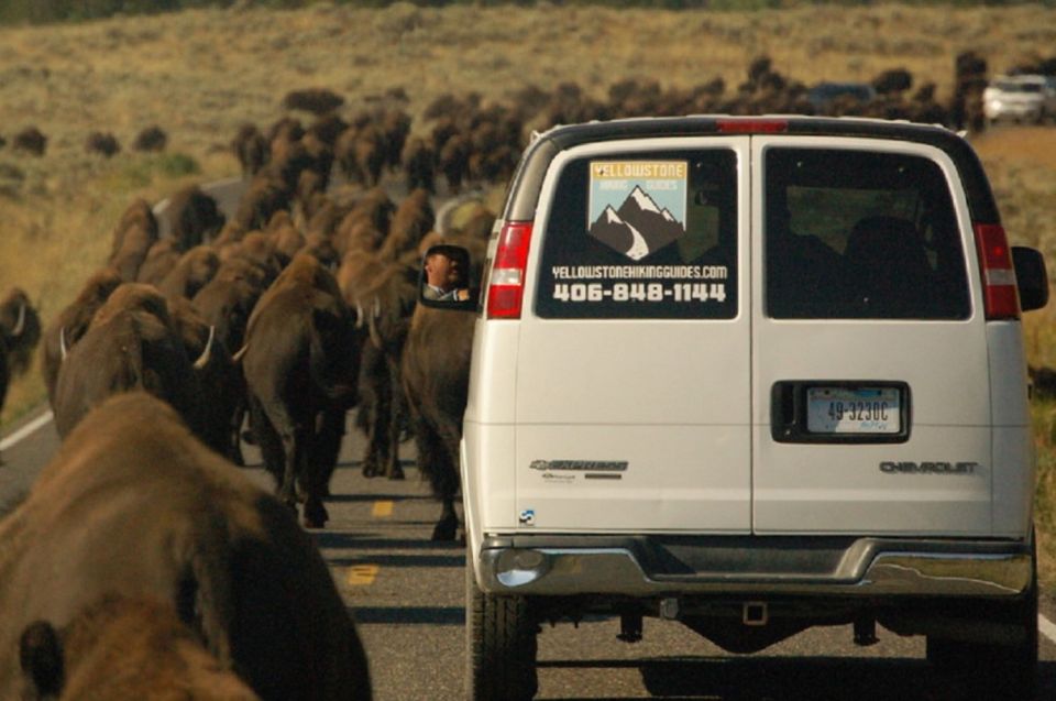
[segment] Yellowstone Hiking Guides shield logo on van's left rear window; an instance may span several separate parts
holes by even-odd
[[[685,161],[591,163],[588,233],[640,261],[685,236]]]

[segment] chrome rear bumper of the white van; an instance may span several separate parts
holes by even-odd
[[[477,581],[493,594],[1016,596],[1028,540],[759,536],[497,536]]]

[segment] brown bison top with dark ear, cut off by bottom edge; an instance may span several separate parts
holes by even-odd
[[[172,604],[110,594],[62,631],[38,621],[19,646],[24,701],[260,701]]]

